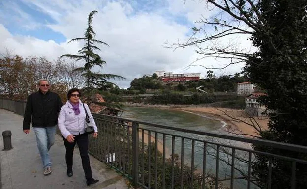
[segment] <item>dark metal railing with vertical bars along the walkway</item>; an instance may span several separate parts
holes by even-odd
[[[9,101],[12,100],[0,99],[0,108],[14,112],[24,108],[25,102]],[[93,116],[99,137],[89,137],[89,153],[131,179],[134,186],[146,189],[306,188],[306,146],[102,114]],[[252,145],[259,148],[253,149]]]

